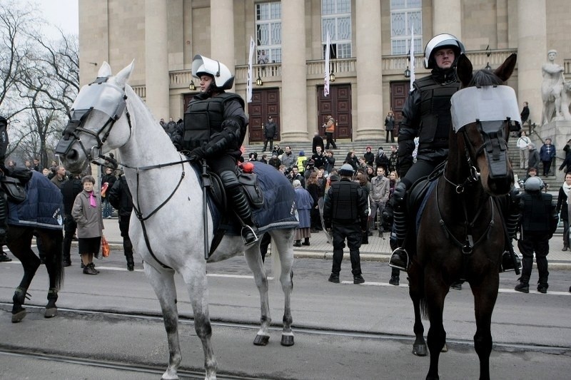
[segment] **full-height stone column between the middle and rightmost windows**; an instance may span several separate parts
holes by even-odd
[[[357,125],[355,140],[384,138],[380,1],[355,1],[357,59]]]

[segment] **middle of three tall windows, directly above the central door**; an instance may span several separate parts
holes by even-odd
[[[350,58],[353,54],[350,0],[321,0],[323,58],[325,58],[328,31],[331,40],[329,58]]]

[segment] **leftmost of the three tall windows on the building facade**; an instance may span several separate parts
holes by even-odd
[[[256,4],[258,57],[265,51],[268,62],[281,62],[281,2]]]

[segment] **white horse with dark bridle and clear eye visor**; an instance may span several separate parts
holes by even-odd
[[[145,103],[128,86],[131,71],[133,63],[116,76],[111,76],[111,67],[103,62],[96,81],[81,88],[74,102],[71,121],[56,151],[61,154],[68,170],[79,173],[100,155],[118,150],[135,211],[138,211],[138,217],[134,217],[137,212],[133,211],[129,235],[135,251],[143,257],[146,277],[163,312],[170,355],[163,379],[178,379],[177,369],[181,363],[175,272],[181,274],[191,296],[196,334],[204,350],[206,379],[216,379],[217,364],[208,316],[201,183],[186,157],[176,151]],[[293,190],[291,202],[293,206]],[[290,294],[293,290],[294,230],[295,227],[284,227],[269,231],[279,256],[274,256],[274,260],[281,262],[279,278],[285,295],[281,344],[284,346],[293,345]],[[206,233],[208,242],[211,242],[213,220],[210,212]],[[241,237],[225,236],[208,262],[242,253],[253,272],[261,297],[261,327],[254,344],[266,345],[271,317],[268,281],[259,241],[246,248]]]

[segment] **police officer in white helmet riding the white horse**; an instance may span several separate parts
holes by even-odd
[[[196,55],[192,75],[200,80],[201,93],[188,104],[184,123],[176,130],[173,143],[179,150],[190,150],[190,160],[206,159],[211,170],[220,176],[228,204],[242,222],[244,243],[252,245],[258,240],[257,229],[236,175],[248,125],[244,101],[236,93],[224,91],[232,88],[234,76],[223,63]]]

